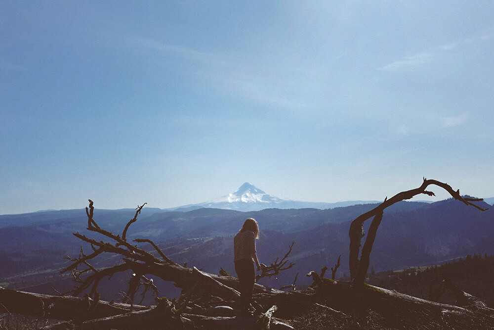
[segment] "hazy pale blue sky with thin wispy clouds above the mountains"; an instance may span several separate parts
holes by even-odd
[[[0,214],[244,182],[493,197],[492,17],[481,0],[0,1]]]

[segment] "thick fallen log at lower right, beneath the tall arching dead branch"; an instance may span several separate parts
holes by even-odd
[[[357,319],[373,311],[384,317],[381,326],[386,328],[418,329],[421,325],[421,329],[494,329],[494,309],[478,304],[478,299],[471,300],[475,304],[459,307],[366,283],[362,286],[322,280],[315,288],[317,302]],[[465,328],[465,324],[469,326]]]

